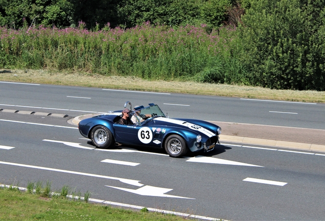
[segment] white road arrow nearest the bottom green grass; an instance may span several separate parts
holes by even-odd
[[[105,185],[106,186],[106,185]],[[168,195],[165,194],[173,189],[167,189],[167,188],[161,188],[161,187],[154,187],[154,186],[144,186],[141,188],[138,188],[136,190],[134,189],[127,189],[127,188],[121,188],[121,187],[113,187],[113,186],[107,186],[119,190],[124,190],[127,192],[135,193],[138,195],[144,195],[144,196],[161,196],[161,197],[172,197],[172,198],[188,198],[188,197],[182,197],[182,196],[175,196],[175,195]],[[194,198],[188,198],[195,200]]]

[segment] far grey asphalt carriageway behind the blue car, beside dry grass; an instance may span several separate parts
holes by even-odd
[[[43,112],[54,112],[49,108],[56,108],[56,112],[59,111],[57,109],[66,109],[62,112],[69,116],[119,110],[126,101],[130,101],[133,105],[158,104],[172,118],[325,129],[325,104],[320,103],[2,82],[0,96],[0,108],[9,108],[4,106],[6,104],[20,105],[15,107],[20,110],[35,111],[35,108],[29,107],[42,107]],[[83,112],[76,112],[77,110]]]

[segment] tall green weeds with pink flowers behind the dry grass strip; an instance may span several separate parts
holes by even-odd
[[[242,83],[231,43],[236,30],[142,26],[99,31],[0,27],[0,68],[82,71],[149,80]]]

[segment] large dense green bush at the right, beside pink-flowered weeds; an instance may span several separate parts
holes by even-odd
[[[273,89],[325,90],[325,1],[249,3],[240,37],[250,82]]]

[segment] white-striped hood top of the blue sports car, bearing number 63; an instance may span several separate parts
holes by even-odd
[[[188,129],[200,132],[200,133],[206,135],[207,137],[216,136],[215,132],[206,129],[201,125],[189,123],[187,121],[176,120],[176,119],[165,118],[165,117],[157,117],[154,120],[158,121],[156,123],[162,124],[162,125],[188,128]]]

